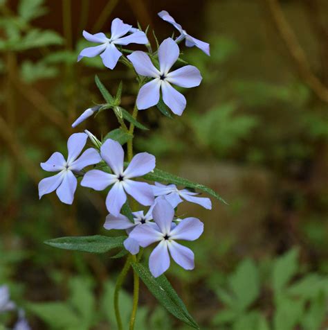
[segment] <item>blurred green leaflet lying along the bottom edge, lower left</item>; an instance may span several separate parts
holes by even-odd
[[[51,326],[51,329],[69,329],[81,324],[78,315],[63,302],[29,303],[26,309]]]

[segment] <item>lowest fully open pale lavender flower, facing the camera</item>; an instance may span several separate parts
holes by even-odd
[[[194,241],[203,232],[203,223],[197,218],[185,218],[172,226],[174,209],[166,200],[158,200],[153,209],[153,218],[158,227],[139,225],[129,234],[143,248],[159,242],[149,257],[149,270],[158,277],[170,267],[170,255],[186,270],[194,268],[194,253],[176,240]],[[170,252],[170,254],[169,254]]]

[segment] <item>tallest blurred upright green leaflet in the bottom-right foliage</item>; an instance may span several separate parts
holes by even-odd
[[[273,265],[273,290],[278,293],[291,280],[298,270],[298,249],[293,248],[282,257],[275,260]]]

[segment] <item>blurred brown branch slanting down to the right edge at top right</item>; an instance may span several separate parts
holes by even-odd
[[[322,101],[328,103],[328,88],[322,84],[322,82],[316,77],[312,72],[307,60],[307,55],[304,53],[302,47],[298,43],[298,40],[289,26],[288,21],[284,17],[284,12],[280,6],[278,0],[266,0],[268,8],[275,22],[277,31],[280,33],[280,37],[284,40],[291,57],[295,61],[295,64],[298,66],[300,75],[303,77],[304,81],[309,85],[313,92],[320,98]]]

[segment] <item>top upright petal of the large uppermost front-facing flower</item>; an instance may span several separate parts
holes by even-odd
[[[179,58],[179,46],[172,38],[165,39],[158,48],[158,60],[162,74],[167,74]]]

